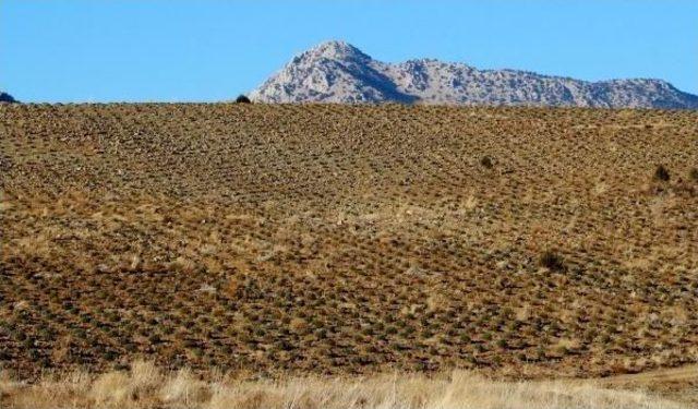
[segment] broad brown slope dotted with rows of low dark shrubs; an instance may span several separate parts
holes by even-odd
[[[0,147],[21,377],[698,362],[695,111],[5,105]]]

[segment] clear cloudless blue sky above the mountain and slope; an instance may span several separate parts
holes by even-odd
[[[661,77],[698,94],[698,0],[0,0],[0,88],[24,101],[224,100],[326,39],[384,61]]]

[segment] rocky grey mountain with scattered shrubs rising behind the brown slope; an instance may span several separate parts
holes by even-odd
[[[587,82],[432,59],[390,64],[345,41],[294,57],[251,93],[263,103],[425,103],[698,109],[698,96],[662,80]]]

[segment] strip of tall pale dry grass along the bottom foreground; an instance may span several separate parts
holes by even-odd
[[[0,404],[11,409],[687,409],[643,392],[603,388],[592,382],[506,383],[454,371],[431,377],[303,377],[244,382],[216,376],[202,382],[188,370],[164,374],[136,362],[130,372],[72,373],[32,385],[0,380]]]

